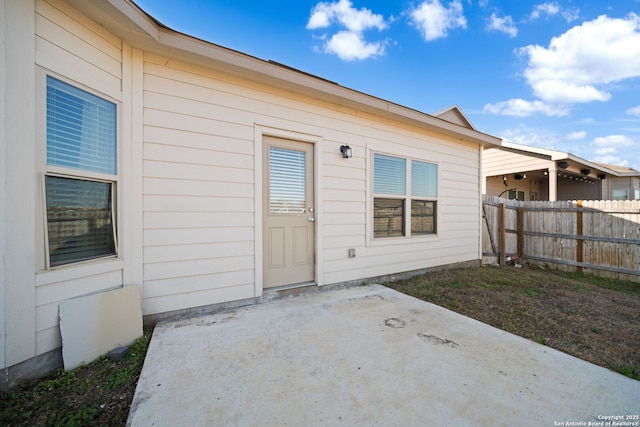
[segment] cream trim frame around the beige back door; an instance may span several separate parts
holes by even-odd
[[[314,193],[314,209],[315,209],[315,278],[318,286],[322,286],[324,284],[323,280],[323,259],[322,259],[322,251],[320,248],[323,247],[323,239],[322,239],[322,228],[323,228],[323,214],[324,209],[322,207],[323,200],[322,197],[322,138],[317,135],[313,135],[310,133],[304,132],[296,132],[291,130],[279,129],[271,126],[264,125],[255,125],[254,129],[254,191],[255,191],[255,205],[254,205],[254,296],[260,297],[262,296],[264,290],[263,283],[263,274],[264,274],[264,263],[263,263],[263,209],[262,202],[264,200],[264,195],[262,191],[262,177],[263,177],[263,146],[264,136],[272,136],[276,138],[285,138],[291,139],[294,141],[306,142],[313,144],[313,193]]]

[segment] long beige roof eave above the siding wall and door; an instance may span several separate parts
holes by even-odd
[[[502,141],[495,136],[441,120],[290,67],[174,31],[153,19],[130,0],[67,1],[134,48],[176,57],[194,65],[214,67],[287,91],[312,96],[385,119],[412,124],[485,147],[499,146]]]

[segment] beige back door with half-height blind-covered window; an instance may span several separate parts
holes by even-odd
[[[315,281],[313,144],[264,137],[264,287]]]

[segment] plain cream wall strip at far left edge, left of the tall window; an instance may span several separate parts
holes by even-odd
[[[33,171],[35,91],[33,4],[5,0],[0,6],[0,366],[35,351],[33,275]]]

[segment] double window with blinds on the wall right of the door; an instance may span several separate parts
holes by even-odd
[[[375,153],[373,193],[374,238],[436,233],[436,164]]]

